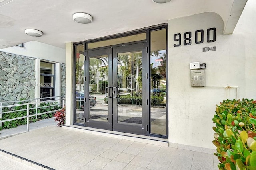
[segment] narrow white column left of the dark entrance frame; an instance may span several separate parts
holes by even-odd
[[[73,43],[66,43],[66,125],[73,124]]]

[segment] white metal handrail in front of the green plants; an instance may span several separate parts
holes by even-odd
[[[60,99],[44,100],[44,99],[49,99],[49,98],[60,98]],[[44,100],[44,101],[40,101],[40,100]],[[35,102],[3,105],[3,103],[18,103],[18,102],[28,102],[28,101],[35,101]],[[53,104],[53,105],[49,105],[49,106],[41,106],[40,107],[40,103],[56,102],[56,101],[60,101],[60,104]],[[27,130],[29,130],[29,117],[36,116],[36,119],[37,119],[38,115],[43,115],[43,114],[46,114],[46,113],[52,113],[52,112],[56,112],[56,111],[61,110],[61,109],[57,109],[57,110],[52,110],[52,111],[46,111],[46,112],[43,112],[43,113],[38,113],[38,109],[44,108],[44,107],[59,106],[59,105],[63,108],[64,103],[65,103],[65,96],[52,96],[52,97],[46,97],[46,98],[35,98],[35,99],[20,100],[20,101],[0,102],[0,127],[2,127],[2,123],[4,123],[4,122],[27,118]],[[2,108],[15,107],[15,106],[24,106],[24,105],[26,105],[26,109],[2,112]],[[30,108],[29,107],[30,105],[35,105],[35,107]],[[36,109],[36,113],[32,114],[32,115],[29,115],[29,110],[32,110],[32,109]],[[15,117],[15,118],[12,118],[12,119],[1,120],[2,119],[2,114],[14,113],[14,112],[18,112],[18,111],[27,111],[27,115],[22,116],[22,117]]]

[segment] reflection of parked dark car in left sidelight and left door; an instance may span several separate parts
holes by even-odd
[[[96,106],[96,97],[89,94],[90,108]],[[76,91],[76,109],[84,109],[84,92]]]

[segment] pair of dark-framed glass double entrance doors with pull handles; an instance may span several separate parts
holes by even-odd
[[[146,43],[86,52],[85,126],[148,135]]]

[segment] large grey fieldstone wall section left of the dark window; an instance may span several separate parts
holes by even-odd
[[[35,98],[35,59],[0,52],[0,101]]]

